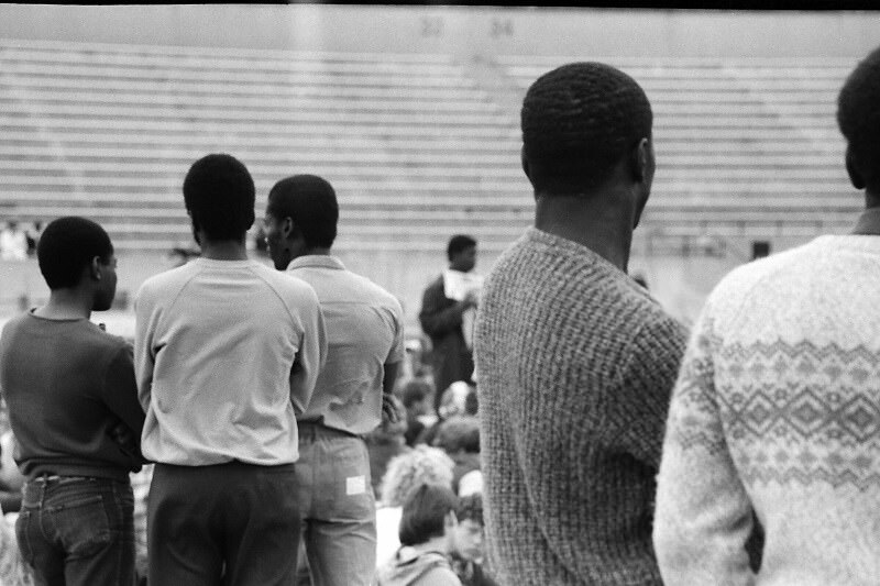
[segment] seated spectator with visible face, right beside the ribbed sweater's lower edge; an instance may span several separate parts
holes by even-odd
[[[452,570],[464,586],[497,586],[483,567],[484,532],[483,496],[459,497],[449,555]]]

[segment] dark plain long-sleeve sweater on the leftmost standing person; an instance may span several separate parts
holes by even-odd
[[[124,423],[140,443],[132,349],[87,319],[24,313],[0,336],[0,387],[28,478],[41,474],[125,479],[141,456],[120,447]]]

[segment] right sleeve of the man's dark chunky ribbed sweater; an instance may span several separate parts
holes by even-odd
[[[612,401],[614,443],[654,471],[686,342],[684,327],[670,317],[646,322],[629,345],[619,396]]]

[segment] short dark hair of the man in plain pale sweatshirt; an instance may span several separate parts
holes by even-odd
[[[195,162],[186,174],[184,202],[208,237],[239,240],[254,223],[254,180],[238,158],[208,155]]]

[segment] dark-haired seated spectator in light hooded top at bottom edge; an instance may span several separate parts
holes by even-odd
[[[409,496],[398,529],[403,546],[380,567],[380,586],[461,586],[448,559],[457,505],[444,486],[424,484]]]

